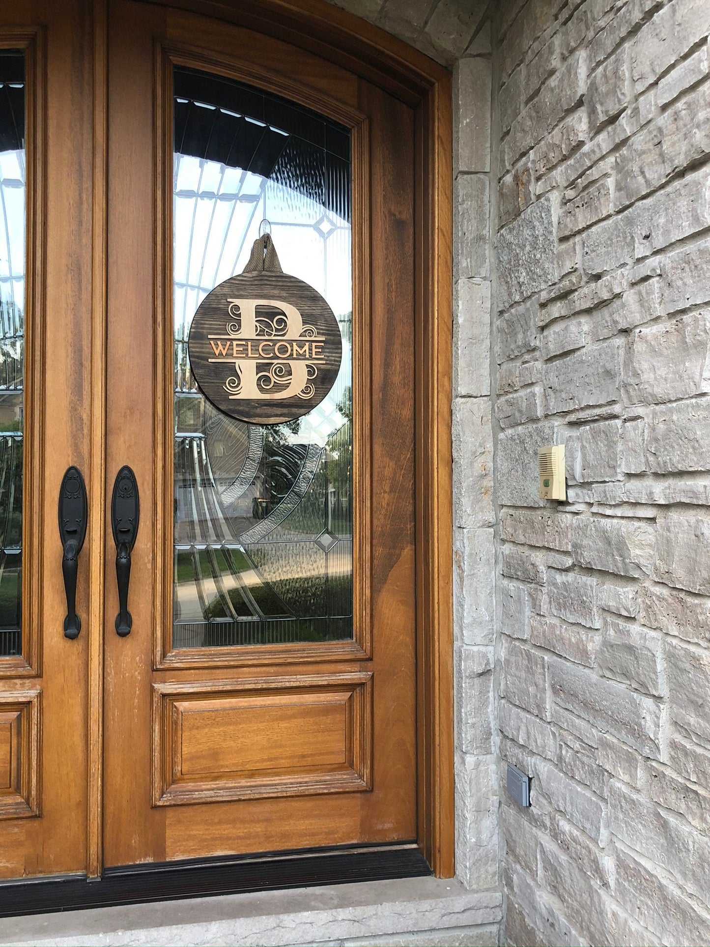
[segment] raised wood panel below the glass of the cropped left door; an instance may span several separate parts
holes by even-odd
[[[0,819],[38,814],[39,690],[0,694]]]

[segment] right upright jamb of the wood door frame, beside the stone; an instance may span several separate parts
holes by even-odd
[[[418,838],[453,877],[452,110],[439,80],[417,110]]]

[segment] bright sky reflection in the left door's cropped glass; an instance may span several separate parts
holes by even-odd
[[[0,152],[0,300],[25,308],[25,152]]]

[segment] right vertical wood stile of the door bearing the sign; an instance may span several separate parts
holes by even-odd
[[[392,838],[415,838],[416,492],[414,311],[414,115],[361,81],[370,132],[368,268],[370,601],[375,670],[373,798],[362,831],[387,813]],[[395,746],[397,749],[395,750]],[[397,798],[396,810],[385,800]]]

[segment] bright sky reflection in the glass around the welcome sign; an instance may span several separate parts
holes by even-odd
[[[310,197],[238,168],[186,154],[174,155],[175,336],[186,338],[204,296],[241,273],[259,224],[271,223],[281,267],[325,296],[340,320],[352,306],[350,224]],[[343,326],[341,328],[344,328]],[[349,335],[349,332],[346,334]],[[301,419],[294,442],[321,445],[344,418],[338,402],[351,379],[352,356],[343,339],[336,384]]]

